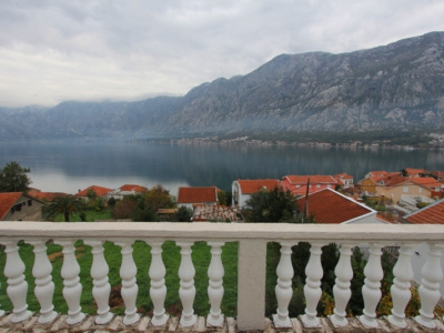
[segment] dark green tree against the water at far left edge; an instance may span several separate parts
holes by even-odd
[[[29,168],[22,168],[18,162],[7,163],[0,170],[0,192],[28,192],[32,183]]]

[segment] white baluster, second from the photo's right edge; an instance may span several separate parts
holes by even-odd
[[[389,315],[389,321],[405,329],[407,322],[405,321],[405,307],[408,304],[412,293],[410,291],[411,281],[413,280],[412,254],[413,244],[402,245],[400,255],[395,266],[393,268],[393,285],[390,289],[393,300],[392,315]]]

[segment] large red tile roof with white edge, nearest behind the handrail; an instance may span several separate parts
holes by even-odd
[[[296,200],[301,212],[305,208],[305,196]],[[316,223],[344,223],[350,220],[376,212],[354,200],[330,189],[309,195],[309,216]]]

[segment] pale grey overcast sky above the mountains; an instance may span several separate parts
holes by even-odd
[[[444,30],[443,0],[1,0],[0,105],[185,94],[282,53]]]

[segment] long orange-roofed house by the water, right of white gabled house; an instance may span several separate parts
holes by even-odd
[[[340,186],[341,184],[332,175],[315,174],[315,175],[284,175],[281,180],[281,185],[284,191],[290,191],[295,196],[302,196],[305,195],[306,192],[314,193],[317,191],[322,191],[324,189],[334,190],[336,186]]]

